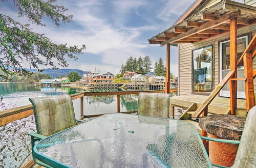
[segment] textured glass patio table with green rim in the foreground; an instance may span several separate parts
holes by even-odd
[[[118,113],[42,139],[33,152],[52,167],[212,167],[194,125]]]

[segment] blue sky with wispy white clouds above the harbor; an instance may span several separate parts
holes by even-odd
[[[32,24],[25,17],[18,17],[12,1],[0,2],[0,11],[21,23],[30,23],[33,32],[45,34],[54,43],[69,46],[82,44],[86,50],[78,60],[67,58],[68,68],[83,71],[119,73],[127,58],[149,55],[153,65],[160,58],[166,59],[166,46],[149,44],[147,39],[168,29],[194,0],[61,0],[56,4],[69,9],[73,22],[59,27],[49,18],[46,26]],[[170,70],[178,75],[177,47],[170,48]],[[166,62],[164,62],[166,63]],[[29,68],[26,62],[25,68]],[[49,67],[41,67],[49,68]],[[59,67],[61,68],[61,67]]]

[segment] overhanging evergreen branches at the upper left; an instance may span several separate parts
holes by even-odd
[[[3,1],[2,2],[7,2]],[[67,8],[57,5],[56,0],[13,0],[14,7],[17,8],[19,16],[26,17],[29,21],[37,25],[45,25],[42,19],[50,18],[56,26],[60,21],[70,22],[73,15],[67,14]],[[17,73],[18,75],[31,75],[32,73],[23,68],[22,61],[30,65],[30,68],[36,68],[42,71],[41,66],[49,65],[56,69],[55,59],[58,65],[67,67],[66,58],[77,60],[77,54],[81,54],[85,45],[82,47],[68,46],[67,43],[55,44],[44,34],[31,31],[29,24],[22,24],[9,16],[0,13],[0,70],[4,74],[1,77],[6,78],[9,75]],[[12,68],[10,70],[9,68]]]

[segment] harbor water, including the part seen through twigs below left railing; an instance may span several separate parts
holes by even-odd
[[[69,87],[46,88],[37,87],[33,83],[0,83],[0,96],[3,95],[3,102],[5,105],[15,104],[16,107],[30,104],[29,97],[79,92],[82,90]],[[175,95],[176,93],[172,94]],[[78,119],[80,118],[80,99],[73,100],[73,104],[75,116]],[[84,96],[83,106],[84,115],[115,113],[116,95]],[[137,109],[138,95],[120,96],[121,112]],[[28,132],[36,132],[33,115],[0,127],[0,167],[19,167],[31,158],[31,143]]]

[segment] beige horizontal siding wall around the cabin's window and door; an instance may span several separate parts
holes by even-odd
[[[249,34],[249,42],[251,37],[256,33],[256,25],[247,26],[243,29],[238,30],[238,36]],[[213,38],[209,38],[203,41],[189,43],[189,44],[178,44],[178,94],[189,95],[192,93],[192,50],[204,47],[207,45],[214,45],[214,89],[220,82],[219,78],[219,42],[229,40],[229,33],[219,35]],[[256,68],[256,59],[253,60],[253,68]],[[256,79],[254,79],[254,92],[256,93]]]

